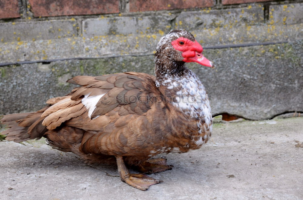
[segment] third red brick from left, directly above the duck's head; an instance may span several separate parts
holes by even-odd
[[[213,0],[130,0],[129,11],[172,10],[178,8],[203,8],[214,5]]]

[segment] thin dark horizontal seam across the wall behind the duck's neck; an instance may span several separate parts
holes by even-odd
[[[275,45],[281,43],[288,43],[288,41],[279,41],[279,42],[254,42],[254,43],[244,43],[244,44],[230,44],[230,45],[216,45],[216,46],[206,46],[203,49],[222,49],[222,48],[240,48],[240,47],[249,47],[249,46],[262,46],[262,45]],[[48,59],[48,60],[36,60],[36,61],[18,61],[18,62],[2,62],[0,67],[8,65],[23,65],[23,64],[33,64],[33,63],[51,63],[56,61],[67,61],[67,60],[88,60],[88,59],[101,59],[101,58],[118,58],[126,56],[143,56],[143,55],[154,55],[153,53],[149,54],[129,54],[129,55],[110,55],[110,56],[101,56],[101,57],[75,57],[75,58],[57,58],[57,59]]]

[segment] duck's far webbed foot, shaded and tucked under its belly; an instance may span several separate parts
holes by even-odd
[[[139,165],[138,170],[140,170],[140,172],[152,174],[152,173],[164,172],[165,170],[172,169],[174,166],[167,165],[166,161],[167,161],[166,158],[150,159]]]

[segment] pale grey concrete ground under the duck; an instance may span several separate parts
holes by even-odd
[[[140,191],[116,166],[86,165],[45,140],[0,142],[0,199],[303,199],[303,118],[214,124],[201,149],[168,154]]]

